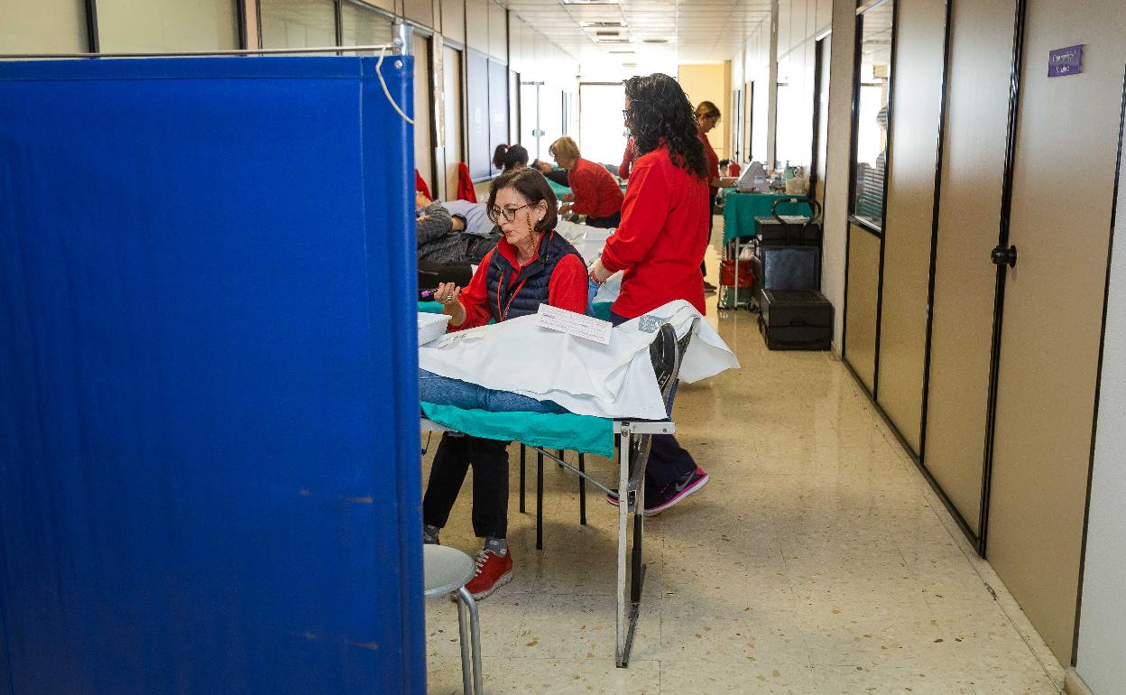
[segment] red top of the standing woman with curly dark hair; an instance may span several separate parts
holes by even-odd
[[[672,163],[667,145],[634,162],[622,224],[602,249],[607,270],[625,270],[614,313],[634,319],[673,300],[705,313],[706,189],[704,179]]]

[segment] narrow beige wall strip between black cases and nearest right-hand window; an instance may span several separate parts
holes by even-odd
[[[852,51],[856,3],[834,0],[835,27],[829,66],[829,148],[825,160],[825,233],[821,244],[821,292],[833,304],[833,344],[840,354],[844,330],[844,244],[848,232],[848,180],[852,137]]]

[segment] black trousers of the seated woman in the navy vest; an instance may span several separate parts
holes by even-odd
[[[446,433],[430,466],[422,523],[443,528],[473,466],[473,533],[508,537],[508,442]]]

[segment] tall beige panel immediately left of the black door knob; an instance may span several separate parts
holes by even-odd
[[[1013,0],[957,2],[950,20],[924,456],[975,534],[997,282],[985,259],[1001,224],[1015,11]]]

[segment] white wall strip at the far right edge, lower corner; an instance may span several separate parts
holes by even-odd
[[[1119,172],[1120,176],[1120,172]],[[1119,180],[1075,670],[1096,695],[1126,687],[1126,180]]]

